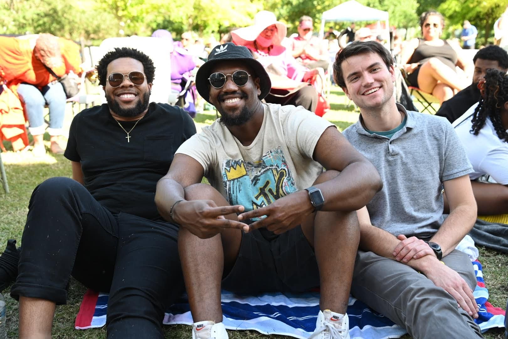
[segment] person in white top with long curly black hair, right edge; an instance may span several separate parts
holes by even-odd
[[[478,87],[480,102],[453,126],[474,170],[469,177],[478,214],[508,214],[508,76],[490,69]]]

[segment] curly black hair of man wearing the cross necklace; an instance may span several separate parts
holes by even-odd
[[[108,77],[108,65],[111,61],[116,60],[121,57],[130,57],[140,61],[143,64],[143,69],[145,71],[146,82],[152,83],[153,78],[155,76],[155,67],[153,66],[153,61],[150,59],[148,55],[145,53],[138,51],[134,48],[129,47],[121,47],[115,48],[113,51],[109,51],[102,57],[97,64],[97,75],[99,77],[99,84],[101,86],[106,86],[106,79]]]

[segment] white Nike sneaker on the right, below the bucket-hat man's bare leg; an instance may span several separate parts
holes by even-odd
[[[330,310],[319,312],[316,329],[309,339],[350,339],[349,318],[347,314],[339,314]]]

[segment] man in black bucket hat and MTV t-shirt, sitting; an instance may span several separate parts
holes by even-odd
[[[243,46],[216,46],[196,84],[221,117],[178,148],[155,193],[164,218],[180,225],[193,338],[228,338],[221,287],[254,294],[317,286],[322,311],[312,337],[349,338],[355,210],[381,189],[377,172],[327,120],[262,103],[270,79]]]

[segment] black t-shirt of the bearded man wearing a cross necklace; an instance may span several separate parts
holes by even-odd
[[[126,131],[135,123],[120,121]],[[168,172],[176,149],[194,134],[194,121],[183,109],[150,103],[127,142],[103,104],[74,117],[65,157],[81,163],[86,189],[111,212],[161,219],[153,201],[157,180]]]

